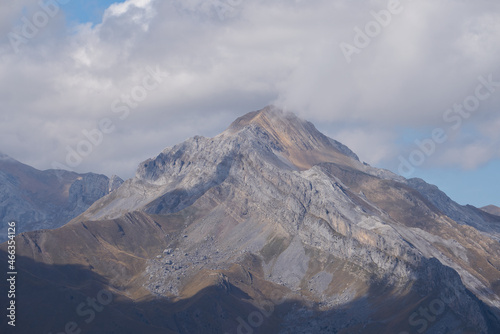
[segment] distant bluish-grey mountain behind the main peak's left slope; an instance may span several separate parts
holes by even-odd
[[[7,222],[17,222],[18,233],[60,227],[121,183],[117,176],[40,171],[0,153],[0,242]]]

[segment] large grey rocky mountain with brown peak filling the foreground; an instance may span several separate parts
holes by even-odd
[[[500,221],[481,212],[266,107],[19,235],[18,329],[498,333]]]

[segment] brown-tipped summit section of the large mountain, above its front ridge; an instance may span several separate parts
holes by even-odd
[[[369,170],[349,148],[311,123],[271,106],[238,118],[215,138],[196,136],[144,161],[135,179],[79,219],[116,218],[137,209],[176,211],[250,161],[272,165],[277,171],[305,171],[328,162]],[[175,208],[167,208],[173,204]]]

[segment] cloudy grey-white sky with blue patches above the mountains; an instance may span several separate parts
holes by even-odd
[[[274,104],[361,160],[500,206],[497,0],[0,3],[0,151],[132,177]]]

